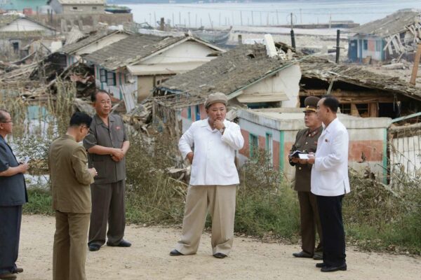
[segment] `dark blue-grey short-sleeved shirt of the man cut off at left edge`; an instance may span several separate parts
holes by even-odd
[[[0,172],[19,165],[10,146],[0,135]],[[0,207],[18,206],[28,202],[25,177],[22,173],[0,176]]]

